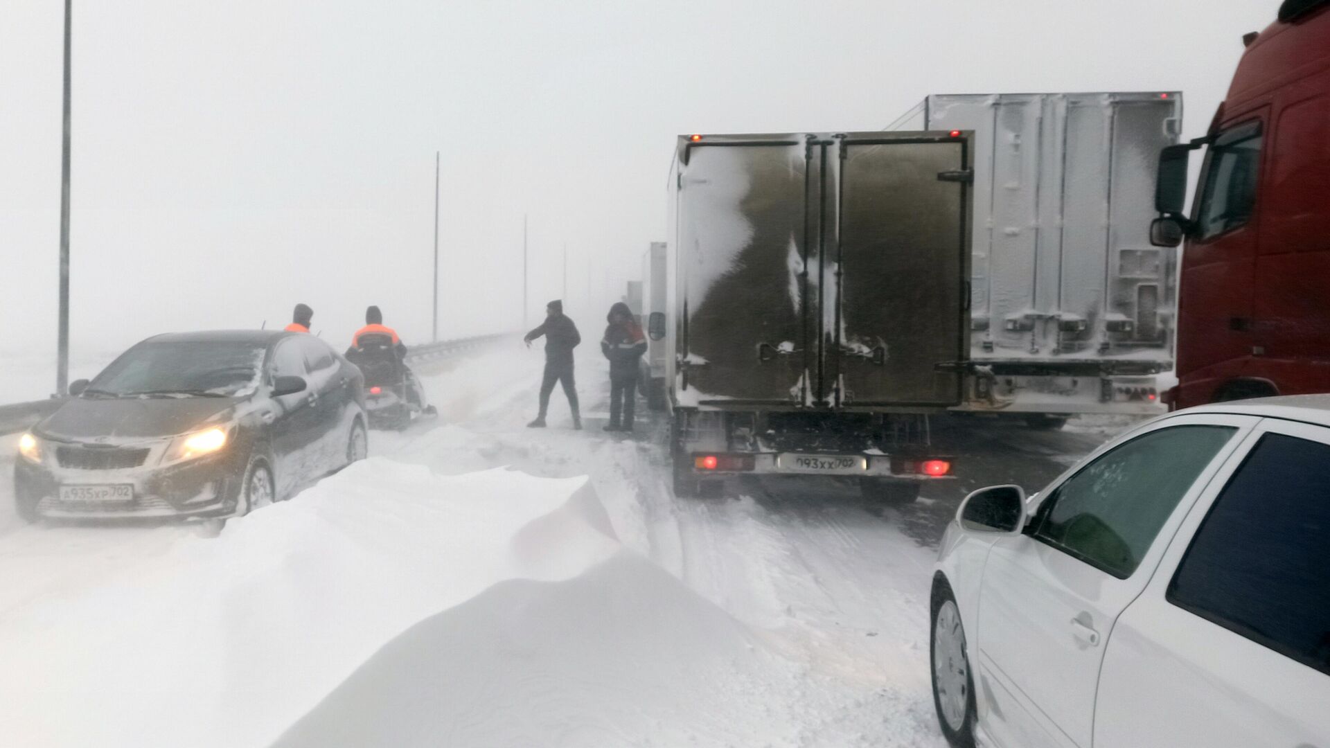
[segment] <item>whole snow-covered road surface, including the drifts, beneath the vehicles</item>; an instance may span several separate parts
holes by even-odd
[[[585,346],[584,346],[585,347]],[[0,439],[5,745],[943,745],[934,544],[1120,425],[963,429],[960,479],[870,510],[833,482],[676,500],[661,423],[533,415],[537,350],[427,377],[438,423],[291,502],[197,527],[23,526]],[[640,403],[641,405],[641,403]]]

